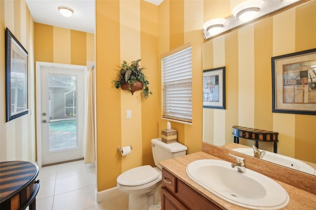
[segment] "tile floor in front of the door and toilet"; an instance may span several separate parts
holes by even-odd
[[[95,164],[83,160],[40,168],[37,210],[127,210],[128,195],[96,202]]]

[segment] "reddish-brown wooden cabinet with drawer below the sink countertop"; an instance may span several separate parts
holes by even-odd
[[[162,169],[161,210],[220,210],[174,175]]]

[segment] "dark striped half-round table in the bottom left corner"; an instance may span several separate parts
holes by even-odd
[[[39,167],[26,161],[0,162],[0,210],[36,209]]]

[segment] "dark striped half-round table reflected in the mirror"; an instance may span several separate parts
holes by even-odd
[[[259,141],[273,142],[273,152],[277,153],[277,132],[266,131],[242,126],[233,126],[234,143],[239,143],[239,138],[254,140],[255,146],[259,149]]]

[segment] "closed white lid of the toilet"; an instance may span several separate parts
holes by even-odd
[[[154,181],[159,177],[159,173],[151,166],[140,166],[130,169],[118,176],[119,184],[126,186],[137,186]]]

